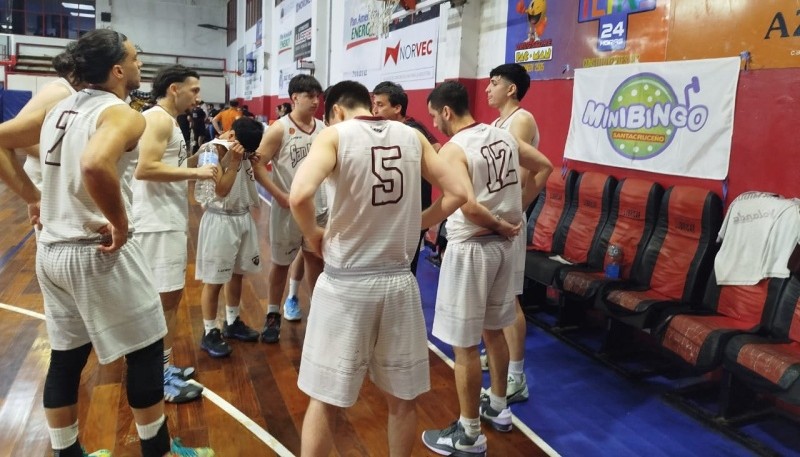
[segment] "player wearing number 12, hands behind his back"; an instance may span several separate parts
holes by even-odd
[[[464,176],[470,198],[447,221],[433,335],[453,345],[461,417],[443,430],[427,430],[425,445],[439,453],[485,455],[480,419],[511,431],[506,403],[508,348],[502,329],[514,322],[514,241],[522,227],[522,204],[538,193],[534,178],[550,162],[534,147],[517,145],[505,130],[475,122],[463,85],[447,81],[428,96],[434,125],[452,138],[439,154]],[[532,170],[524,192],[520,166]],[[491,392],[480,401],[481,332],[489,351]]]

